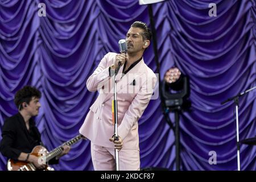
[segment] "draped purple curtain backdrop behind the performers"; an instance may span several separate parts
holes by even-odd
[[[39,3],[45,3],[38,14]],[[217,16],[209,16],[209,3]],[[192,107],[180,115],[182,170],[236,170],[234,103],[220,102],[256,85],[255,0],[164,1],[152,5],[160,75],[176,65],[190,78]],[[0,129],[17,113],[14,94],[24,85],[42,91],[36,123],[48,150],[75,137],[97,92],[86,79],[107,52],[118,52],[135,20],[150,23],[137,0],[0,1]],[[156,72],[152,44],[144,55]],[[256,91],[240,98],[240,139],[256,135]],[[174,122],[174,115],[170,117]],[[0,130],[1,134],[1,130]],[[175,169],[174,132],[160,100],[139,120],[141,168]],[[2,139],[2,137],[0,137]],[[217,154],[217,164],[208,160]],[[241,146],[241,169],[256,169],[256,148]],[[6,158],[0,155],[0,169]],[[57,170],[93,170],[90,142],[75,144]]]

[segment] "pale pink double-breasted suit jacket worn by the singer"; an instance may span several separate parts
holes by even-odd
[[[90,107],[79,130],[80,134],[94,144],[110,148],[114,148],[113,142],[109,141],[114,134],[114,76],[109,76],[109,66],[114,64],[115,55],[113,52],[106,54],[86,82],[89,91],[99,90],[100,94]],[[123,65],[117,75],[118,135],[123,140],[123,149],[139,150],[138,119],[141,118],[154,92],[156,76],[143,59],[121,78],[122,72]]]

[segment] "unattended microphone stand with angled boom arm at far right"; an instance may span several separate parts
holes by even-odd
[[[238,125],[238,107],[239,107],[239,97],[241,97],[243,94],[246,94],[247,92],[250,92],[251,90],[255,89],[256,86],[253,88],[250,88],[248,90],[245,90],[245,92],[237,94],[237,96],[230,97],[226,101],[221,102],[221,105],[225,104],[226,102],[234,100],[234,103],[236,104],[236,126],[237,126],[237,171],[240,171],[240,144],[239,144],[239,125]]]

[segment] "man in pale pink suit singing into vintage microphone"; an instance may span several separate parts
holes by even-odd
[[[95,170],[115,170],[114,148],[119,150],[120,170],[139,170],[138,119],[154,92],[155,73],[144,63],[143,52],[150,45],[151,32],[143,22],[134,22],[126,35],[127,55],[110,52],[88,78],[89,91],[100,91],[80,128],[91,141]],[[118,138],[112,138],[113,72],[117,74]],[[121,150],[122,149],[122,150]]]

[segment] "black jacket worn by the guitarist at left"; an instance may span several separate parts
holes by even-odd
[[[30,153],[33,148],[43,145],[41,134],[35,126],[34,119],[30,118],[30,130],[27,130],[26,124],[21,114],[15,114],[7,118],[2,127],[2,140],[0,143],[0,152],[7,158],[18,160],[21,152]],[[49,164],[56,164],[58,160],[52,159]]]

